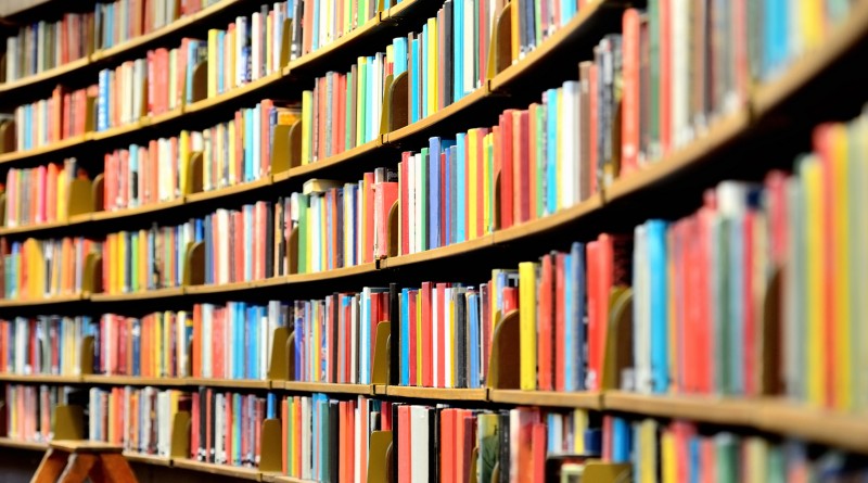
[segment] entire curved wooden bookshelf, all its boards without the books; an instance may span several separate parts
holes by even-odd
[[[194,15],[181,18],[169,26],[125,42],[105,51],[95,52],[89,58],[65,64],[61,67],[40,73],[31,78],[0,85],[0,96],[12,99],[24,89],[36,88],[49,80],[61,80],[97,68],[114,65],[149,47],[157,46],[162,39],[171,35],[183,35],[192,28],[201,28],[218,15],[226,15],[234,9],[243,9],[252,2],[218,2]],[[48,147],[25,152],[0,154],[0,169],[18,164],[38,163],[49,156],[59,156],[71,152],[99,152],[108,147],[118,145],[122,140],[131,137],[157,137],[174,126],[199,119],[213,113],[232,110],[250,104],[250,100],[263,96],[266,91],[279,88],[295,87],[296,84],[309,84],[328,68],[346,68],[354,53],[371,50],[370,45],[383,47],[383,40],[395,35],[396,30],[406,34],[418,28],[418,21],[436,9],[435,2],[429,0],[405,0],[398,5],[380,11],[350,34],[341,37],[331,45],[318,49],[309,55],[303,55],[273,74],[256,81],[232,89],[222,94],[183,104],[179,109],[154,117],[143,117],[138,123],[112,128],[102,132],[89,132],[80,138],[67,139]],[[401,150],[424,145],[429,137],[444,132],[455,132],[464,126],[478,124],[489,125],[490,112],[498,112],[509,99],[520,97],[528,79],[535,73],[552,63],[569,58],[576,45],[592,46],[599,40],[601,31],[605,31],[617,18],[624,5],[621,2],[600,0],[579,12],[551,35],[537,49],[529,52],[521,61],[502,69],[489,64],[490,77],[481,87],[461,100],[426,116],[416,123],[397,122],[391,128],[382,129],[375,139],[350,148],[324,160],[305,165],[289,166],[288,169],[271,173],[258,180],[244,182],[213,191],[183,193],[179,199],[154,203],[136,208],[116,212],[97,211],[97,203],[91,213],[76,214],[66,220],[35,226],[2,227],[0,237],[24,239],[41,236],[44,232],[76,236],[81,232],[108,231],[114,224],[138,224],[139,220],[154,220],[162,216],[179,216],[190,209],[203,209],[203,206],[233,204],[242,196],[266,196],[276,190],[298,187],[304,181],[342,170],[360,171],[360,166],[369,166],[379,156],[393,156]],[[230,10],[231,9],[231,10]],[[609,215],[620,213],[618,209],[637,200],[644,200],[649,193],[659,192],[662,185],[691,179],[705,166],[731,153],[733,149],[748,149],[758,142],[763,132],[778,120],[782,105],[797,103],[804,91],[822,77],[827,71],[842,62],[852,51],[865,43],[868,37],[868,2],[854,3],[847,20],[835,30],[822,47],[805,54],[795,61],[787,72],[768,84],[751,87],[745,105],[739,106],[731,114],[714,119],[705,132],[686,147],[673,151],[663,158],[644,166],[642,169],[615,179],[610,186],[601,187],[596,193],[574,206],[557,213],[515,225],[507,229],[498,229],[478,238],[426,250],[420,253],[386,256],[371,263],[323,270],[309,274],[291,274],[264,280],[241,281],[225,284],[184,283],[182,287],[140,291],[135,293],[82,293],[77,295],[53,296],[33,300],[0,301],[0,308],[10,310],[49,310],[62,313],[66,307],[77,304],[81,312],[99,314],[108,305],[117,306],[126,303],[146,303],[154,306],[163,304],[192,304],[201,301],[230,300],[231,297],[261,297],[279,290],[298,292],[328,292],[330,283],[342,287],[376,283],[399,277],[412,280],[424,280],[426,270],[434,264],[448,265],[458,275],[469,271],[462,267],[464,260],[480,257],[485,264],[494,265],[492,257],[514,250],[515,246],[527,246],[537,242],[545,243],[552,233],[563,233],[573,228],[580,228],[595,234],[603,228],[592,226]],[[380,42],[380,43],[376,43]],[[497,50],[495,48],[495,50]],[[496,64],[496,61],[492,61]],[[536,92],[538,93],[538,92]],[[388,94],[386,94],[388,96]],[[254,101],[255,102],[255,101]],[[393,115],[404,112],[406,116],[406,99],[386,99],[384,110]],[[486,117],[487,116],[487,117]],[[488,124],[485,124],[488,123]],[[388,126],[387,126],[388,127]],[[748,147],[748,148],[745,148]],[[288,147],[295,156],[299,145]],[[297,158],[297,157],[295,157]],[[367,163],[367,164],[366,164]],[[289,163],[288,163],[289,164]],[[675,180],[675,181],[674,181]],[[655,191],[656,190],[656,191]],[[92,200],[89,200],[92,201]],[[498,201],[499,202],[499,201]],[[653,209],[653,207],[649,208]],[[199,213],[199,212],[196,212]],[[139,225],[145,226],[141,223]],[[609,225],[603,225],[609,226]],[[396,230],[397,227],[391,227]],[[548,246],[547,246],[548,247]],[[514,255],[514,254],[513,254]],[[532,255],[528,255],[529,258]],[[184,259],[184,263],[189,260]],[[489,267],[490,268],[490,267]],[[97,277],[88,274],[86,277]],[[195,277],[195,276],[194,276]],[[197,277],[196,277],[197,278]],[[191,279],[192,280],[192,279]],[[286,287],[290,285],[290,287]],[[323,287],[326,289],[323,289]],[[43,308],[44,307],[44,308]],[[395,323],[393,321],[393,323]],[[394,346],[392,349],[395,349]],[[379,355],[384,357],[383,355]],[[508,366],[499,370],[516,369]],[[394,370],[394,368],[390,368]],[[714,427],[751,429],[763,434],[793,436],[812,443],[829,445],[858,454],[868,454],[868,424],[865,415],[827,411],[807,405],[795,405],[776,397],[712,397],[676,394],[646,395],[605,387],[600,391],[556,392],[523,391],[512,387],[480,389],[445,389],[420,387],[383,383],[371,384],[329,383],[290,381],[285,379],[243,380],[219,378],[138,378],[129,376],[89,374],[66,376],[18,376],[0,374],[5,383],[33,383],[56,385],[93,385],[93,386],[158,386],[158,387],[219,387],[238,390],[238,392],[271,392],[280,396],[322,393],[346,401],[353,396],[371,396],[390,402],[416,402],[423,404],[457,404],[475,407],[512,407],[539,406],[545,408],[580,408],[590,411],[602,411],[613,415],[629,415],[634,418],[660,418],[664,420],[688,420]],[[189,435],[188,435],[189,437]],[[173,434],[173,440],[175,434]],[[189,441],[186,442],[188,445]],[[0,447],[28,450],[44,450],[41,443],[27,443],[0,437]],[[174,449],[173,449],[174,450]],[[231,467],[227,465],[195,461],[189,456],[157,457],[136,453],[125,454],[136,463],[163,466],[189,471],[218,474],[250,481],[303,482],[272,471],[253,468]]]

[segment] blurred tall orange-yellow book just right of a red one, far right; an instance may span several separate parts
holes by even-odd
[[[847,151],[850,145],[847,142],[847,127],[844,124],[835,124],[832,128],[832,169],[833,192],[834,196],[832,204],[832,239],[835,242],[833,247],[834,263],[832,266],[832,274],[835,274],[834,279],[834,339],[833,339],[833,355],[834,355],[834,405],[837,409],[850,410],[853,408],[853,385],[851,384],[853,378],[853,353],[851,347],[852,332],[851,325],[851,263],[856,260],[850,259],[850,239],[853,236],[850,226],[850,163]]]

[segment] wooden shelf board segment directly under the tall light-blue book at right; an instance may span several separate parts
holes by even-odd
[[[635,412],[714,424],[755,427],[762,415],[758,401],[693,395],[650,395],[609,391],[603,395],[608,410]]]

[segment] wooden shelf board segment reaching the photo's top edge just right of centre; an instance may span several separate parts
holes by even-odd
[[[516,77],[524,75],[528,71],[536,69],[540,62],[545,61],[546,58],[551,55],[554,51],[563,49],[565,43],[572,37],[575,37],[582,29],[586,28],[588,24],[595,22],[595,16],[605,7],[604,3],[607,2],[613,3],[611,0],[598,0],[588,2],[586,5],[579,9],[578,14],[573,17],[573,20],[556,30],[554,34],[544,40],[539,47],[532,50],[524,56],[524,59],[513,63],[490,79],[490,90],[506,90],[506,88],[512,84]],[[577,73],[578,71],[576,69],[576,74]]]

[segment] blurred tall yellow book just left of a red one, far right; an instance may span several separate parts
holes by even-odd
[[[812,155],[800,165],[805,193],[805,320],[807,333],[805,347],[807,358],[807,399],[820,406],[825,401],[826,336],[822,329],[822,173],[819,161]]]

